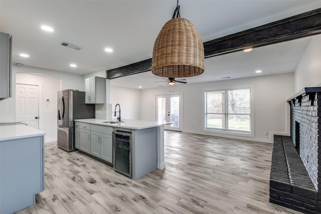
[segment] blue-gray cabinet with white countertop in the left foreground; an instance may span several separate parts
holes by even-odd
[[[44,135],[23,123],[0,123],[0,213],[36,203],[44,190]]]

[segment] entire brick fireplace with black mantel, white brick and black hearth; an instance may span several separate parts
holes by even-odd
[[[291,136],[274,136],[270,202],[321,213],[321,87],[304,88],[287,102]]]

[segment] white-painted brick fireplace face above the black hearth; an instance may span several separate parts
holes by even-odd
[[[319,167],[321,165],[319,121],[321,116],[321,92],[304,92],[288,102],[291,108],[292,141],[297,144],[299,138],[300,158],[315,189],[320,189],[321,176],[318,172],[321,172],[321,167]],[[318,160],[320,160],[320,163]]]

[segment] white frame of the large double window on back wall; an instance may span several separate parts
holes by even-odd
[[[246,114],[250,116],[250,131],[242,131],[242,130],[235,130],[235,129],[221,129],[221,128],[207,128],[207,92],[215,92],[215,91],[228,91],[232,90],[242,90],[242,89],[249,89],[250,90],[250,114]],[[225,97],[225,104],[227,103],[226,109],[228,109],[228,96]],[[229,135],[238,135],[238,136],[246,136],[246,137],[254,137],[254,90],[253,86],[242,86],[242,87],[235,87],[235,88],[211,88],[211,89],[203,89],[203,131],[217,133],[217,134],[229,134]],[[228,120],[228,115],[231,113],[225,112],[222,115],[225,118],[225,121]],[[227,122],[227,121],[226,121]]]

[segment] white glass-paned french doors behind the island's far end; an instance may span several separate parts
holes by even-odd
[[[156,95],[156,120],[158,122],[173,122],[165,129],[183,130],[183,94]]]

